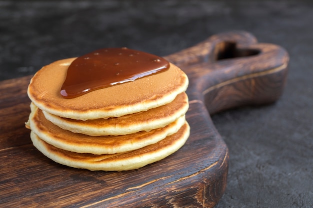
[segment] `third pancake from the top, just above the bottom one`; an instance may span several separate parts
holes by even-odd
[[[31,109],[29,126],[40,139],[59,149],[96,155],[128,152],[154,144],[166,136],[176,133],[185,123],[183,115],[164,128],[149,132],[140,131],[130,135],[93,137],[63,130],[46,120],[42,111],[34,105],[31,105]]]

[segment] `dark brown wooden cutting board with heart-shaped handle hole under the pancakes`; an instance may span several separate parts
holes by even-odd
[[[31,77],[0,82],[0,207],[214,207],[226,187],[229,155],[209,115],[274,102],[288,55],[233,31],[165,58],[189,77],[190,137],[173,155],[133,171],[91,172],[44,157],[24,128]]]

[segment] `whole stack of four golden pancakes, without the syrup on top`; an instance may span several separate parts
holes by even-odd
[[[28,86],[26,127],[42,154],[74,168],[124,171],[159,161],[185,143],[188,79],[177,66],[65,99],[60,86],[74,59],[44,66]]]

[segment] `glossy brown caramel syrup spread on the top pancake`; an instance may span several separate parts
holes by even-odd
[[[164,58],[128,48],[103,48],[76,58],[67,69],[60,93],[74,98],[160,72],[169,68]]]

